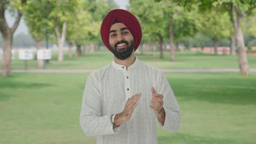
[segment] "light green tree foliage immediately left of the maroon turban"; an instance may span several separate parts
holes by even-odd
[[[78,1],[75,13],[69,17],[67,39],[78,45],[97,43],[100,39],[100,26],[104,16],[113,8],[109,1]]]

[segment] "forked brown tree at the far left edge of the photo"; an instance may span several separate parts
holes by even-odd
[[[0,1],[0,32],[3,38],[3,59],[2,59],[2,75],[9,76],[11,74],[11,44],[13,39],[13,34],[19,25],[26,0],[16,0],[16,1]],[[5,19],[5,10],[13,11],[16,15],[15,22],[13,26],[9,27]]]

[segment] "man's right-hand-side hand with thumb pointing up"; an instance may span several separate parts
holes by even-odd
[[[162,94],[157,94],[155,92],[154,87],[151,88],[151,92],[152,92],[152,100],[150,101],[151,105],[149,105],[149,107],[153,109],[156,115],[160,115],[164,110],[162,107],[162,105],[164,104],[164,101],[162,100],[164,96]]]

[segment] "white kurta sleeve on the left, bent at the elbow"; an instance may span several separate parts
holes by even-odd
[[[86,136],[110,135],[119,131],[113,130],[111,115],[101,116],[100,83],[92,74],[89,75],[83,93],[80,125]]]

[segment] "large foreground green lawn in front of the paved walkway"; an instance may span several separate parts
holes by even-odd
[[[143,59],[143,58],[142,58]],[[79,125],[89,74],[0,77],[0,143],[96,143]],[[159,143],[256,143],[256,74],[168,73],[182,121]]]

